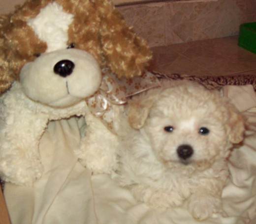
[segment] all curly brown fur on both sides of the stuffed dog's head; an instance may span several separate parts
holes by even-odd
[[[28,20],[54,0],[27,0],[14,13],[0,18],[0,93],[19,80],[21,68],[45,52]],[[101,68],[108,67],[118,77],[141,75],[151,51],[136,36],[110,0],[56,0],[64,11],[74,15],[67,45],[91,53]]]

